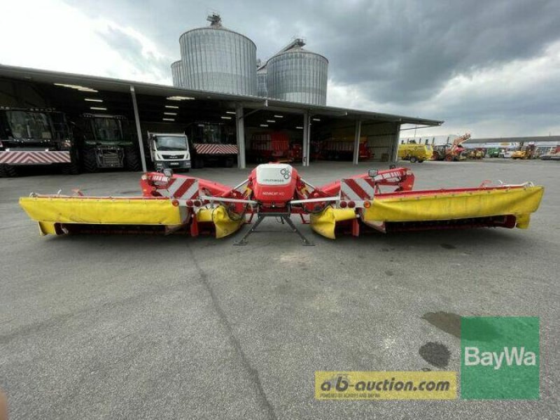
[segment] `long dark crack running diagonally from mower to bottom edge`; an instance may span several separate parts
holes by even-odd
[[[235,352],[237,353],[237,356],[241,360],[241,365],[247,371],[251,381],[255,385],[261,409],[267,413],[267,418],[276,420],[277,417],[276,414],[274,414],[274,408],[270,404],[265,390],[262,388],[262,384],[260,383],[260,378],[258,376],[258,371],[251,365],[251,362],[249,362],[245,352],[241,348],[241,343],[239,342],[239,339],[237,339],[230,321],[228,321],[228,316],[225,315],[225,312],[218,302],[216,293],[214,293],[214,289],[210,286],[210,283],[208,281],[208,274],[204,271],[204,269],[202,269],[202,267],[200,267],[200,264],[195,257],[195,253],[193,252],[193,248],[191,248],[189,244],[187,244],[187,250],[190,253],[190,261],[193,262],[193,265],[200,276],[202,285],[207,289],[207,292],[210,295],[212,306],[214,307],[216,314],[218,314],[218,317],[220,318],[220,321],[225,330],[228,332],[228,337],[230,339],[230,342],[232,343],[233,348],[235,349]]]

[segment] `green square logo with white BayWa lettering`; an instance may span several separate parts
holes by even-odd
[[[461,398],[538,400],[539,318],[461,318]]]

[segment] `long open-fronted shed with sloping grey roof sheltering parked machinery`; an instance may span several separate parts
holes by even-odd
[[[183,132],[188,125],[199,121],[214,121],[228,133],[227,142],[236,148],[240,168],[246,167],[253,135],[263,131],[286,133],[290,141],[302,148],[300,157],[294,161],[307,166],[314,149],[333,137],[344,139],[347,149],[344,152],[349,153],[354,163],[360,158],[361,145],[371,150],[372,160],[394,161],[401,125],[443,123],[17,66],[0,66],[0,105],[54,108],[66,113],[70,120],[82,113],[123,116],[134,122],[134,137],[141,145],[141,152],[148,130]]]

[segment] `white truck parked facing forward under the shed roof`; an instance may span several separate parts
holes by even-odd
[[[190,169],[190,150],[185,133],[148,132],[150,155],[156,170]]]

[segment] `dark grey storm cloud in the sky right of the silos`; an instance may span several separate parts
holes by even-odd
[[[452,76],[532,57],[560,38],[558,1],[364,2],[339,16],[321,9],[313,36],[331,76],[378,102],[426,99]]]

